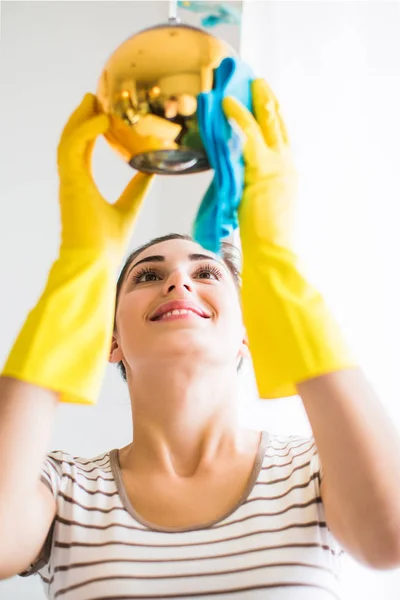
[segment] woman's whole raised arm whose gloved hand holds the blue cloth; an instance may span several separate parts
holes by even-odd
[[[233,99],[245,134],[239,210],[243,312],[263,398],[300,394],[323,466],[327,523],[376,568],[400,566],[400,440],[293,248],[295,175],[272,91],[253,82],[255,118]]]

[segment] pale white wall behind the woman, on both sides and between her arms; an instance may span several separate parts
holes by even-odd
[[[113,48],[166,15],[165,0],[2,4],[0,362],[57,252],[55,149],[61,128],[83,93],[95,90]],[[276,88],[292,131],[302,175],[303,255],[400,425],[399,28],[394,3],[253,0],[245,3],[243,51]],[[237,45],[237,32],[218,33]],[[131,174],[99,143],[95,176],[108,198]],[[210,174],[158,178],[132,246],[172,230],[189,231],[209,180]],[[249,378],[251,373],[244,387]],[[243,417],[272,430],[308,431],[296,398],[265,403],[252,397]],[[109,369],[96,407],[60,407],[52,448],[90,456],[125,444],[130,429],[126,390]],[[397,600],[400,594],[397,574],[351,564],[345,581],[346,600],[378,593]],[[0,600],[42,597],[35,578],[0,582]]]

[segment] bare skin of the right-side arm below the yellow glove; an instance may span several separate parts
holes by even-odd
[[[400,565],[400,440],[359,369],[298,384],[323,466],[328,525],[356,558]]]

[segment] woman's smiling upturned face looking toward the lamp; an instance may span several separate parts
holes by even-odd
[[[187,240],[146,248],[127,270],[111,362],[236,364],[247,354],[239,296],[227,266]]]

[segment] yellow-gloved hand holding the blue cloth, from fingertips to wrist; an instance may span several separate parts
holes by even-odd
[[[252,97],[255,117],[234,98],[223,100],[226,117],[244,136],[245,188],[239,208],[243,250],[257,242],[291,249],[297,177],[286,127],[263,79],[252,82]]]

